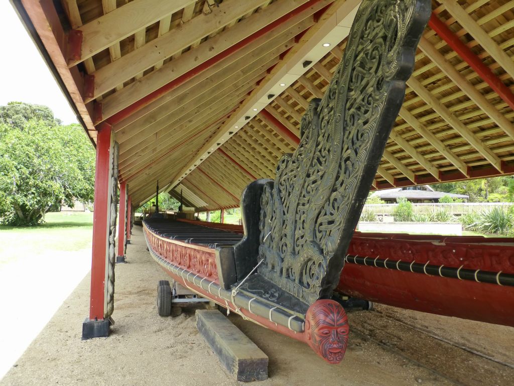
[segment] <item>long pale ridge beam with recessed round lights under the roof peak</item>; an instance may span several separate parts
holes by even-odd
[[[210,149],[216,149],[225,143],[229,138],[229,131],[235,129],[239,122],[246,123],[249,119],[247,116],[254,117],[259,109],[263,109],[267,103],[269,94],[278,95],[282,92],[281,83],[291,84],[293,81],[302,76],[309,67],[304,67],[305,60],[310,60],[313,63],[319,61],[324,55],[328,53],[328,49],[322,49],[322,42],[331,40],[334,44],[339,44],[341,40],[348,36],[350,29],[355,19],[360,0],[336,0],[329,6],[323,15],[320,16],[318,23],[311,27],[304,36],[300,39],[299,44],[293,47],[288,54],[284,57],[276,67],[273,68],[271,74],[261,82],[252,94],[245,100],[242,106],[230,116],[224,123],[221,129],[213,136],[211,141],[206,143],[194,157],[194,161],[182,168],[175,176],[172,185],[185,178],[187,173],[195,165],[199,165],[200,159],[205,160],[209,155]],[[321,48],[320,48],[321,47]],[[286,80],[287,79],[287,80]],[[281,90],[277,92],[277,90]],[[255,112],[257,110],[257,112]]]

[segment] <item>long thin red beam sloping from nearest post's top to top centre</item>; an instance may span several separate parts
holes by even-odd
[[[268,33],[269,31],[272,31],[273,29],[279,27],[281,24],[287,22],[289,19],[292,19],[292,17],[296,16],[297,14],[305,11],[306,9],[314,6],[316,3],[319,3],[321,0],[310,0],[305,4],[302,4],[295,10],[285,14],[284,16],[280,17],[273,23],[268,24],[266,27],[261,28],[259,31],[254,32],[249,37],[243,39],[242,41],[234,44],[233,46],[227,48],[225,51],[219,53],[218,55],[214,56],[213,58],[199,64],[195,68],[193,68],[188,73],[178,77],[177,79],[172,80],[168,84],[163,85],[158,90],[146,95],[145,97],[139,99],[137,102],[131,104],[131,106],[128,106],[127,108],[121,110],[120,112],[114,114],[112,117],[108,118],[108,122],[112,125],[116,125],[121,120],[125,119],[126,117],[130,116],[131,114],[135,113],[136,111],[142,109],[143,107],[147,106],[154,100],[160,98],[164,94],[169,93],[175,87],[179,86],[180,84],[188,81],[191,78],[194,78],[201,72],[204,72],[207,68],[213,66],[214,64],[222,61],[223,59],[227,58],[228,56],[232,55],[237,50],[240,50],[241,48],[245,47],[246,45],[252,43],[253,41],[259,39],[264,34]]]

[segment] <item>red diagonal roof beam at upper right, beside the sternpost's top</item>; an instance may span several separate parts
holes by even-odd
[[[439,20],[435,13],[432,13],[428,25],[514,110],[514,94],[510,89],[482,62],[478,55],[464,44],[444,22]]]

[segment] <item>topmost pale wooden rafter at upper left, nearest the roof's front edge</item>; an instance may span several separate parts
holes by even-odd
[[[98,19],[84,24],[78,28],[79,31],[82,31],[81,58],[70,61],[69,67],[75,66],[87,58],[98,54],[98,52],[131,36],[141,28],[159,21],[163,16],[194,4],[195,1],[174,0],[172,2],[163,2],[161,0],[134,0],[98,17]]]

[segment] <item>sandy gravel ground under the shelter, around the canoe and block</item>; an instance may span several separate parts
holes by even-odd
[[[177,318],[158,317],[155,305],[157,281],[167,276],[146,252],[140,227],[135,229],[127,257],[130,264],[116,267],[113,315],[116,325],[112,335],[106,339],[80,340],[82,321],[88,309],[89,277],[86,276],[17,361],[17,366],[0,381],[0,386],[239,384],[227,376],[198,334],[194,310]],[[269,356],[270,378],[259,382],[262,386],[475,384],[454,380],[440,371],[444,369],[434,369],[433,363],[417,364],[419,361],[412,358],[409,350],[435,358],[448,354],[439,352],[438,347],[429,348],[432,351],[427,352],[416,346],[417,342],[426,343],[426,336],[421,332],[408,331],[410,335],[406,336],[406,341],[409,345],[399,339],[391,342],[395,345],[389,347],[387,335],[374,336],[377,332],[388,331],[387,325],[376,325],[388,323],[380,317],[378,312],[350,314],[355,332],[351,333],[343,362],[334,366],[326,364],[305,344],[230,315],[230,319]],[[361,330],[369,336],[357,332]],[[460,365],[460,356],[453,352],[448,355],[454,355],[444,358],[448,365]],[[485,362],[479,361],[479,370],[487,376],[494,369]],[[505,373],[509,379],[513,375],[508,370]],[[499,382],[503,379],[496,378]]]

